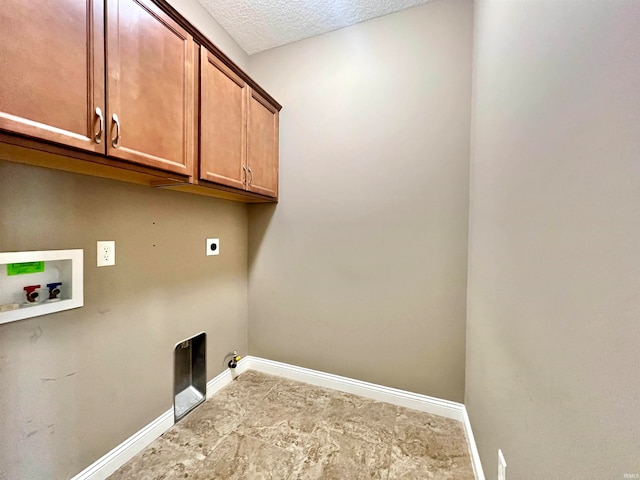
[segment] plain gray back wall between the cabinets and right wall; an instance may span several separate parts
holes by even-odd
[[[253,355],[462,401],[472,18],[436,1],[250,57],[285,106]]]

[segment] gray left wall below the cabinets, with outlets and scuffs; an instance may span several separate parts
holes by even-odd
[[[171,408],[176,342],[207,332],[209,379],[247,350],[245,205],[0,161],[0,251],[68,248],[84,307],[0,325],[2,480],[70,478]]]

